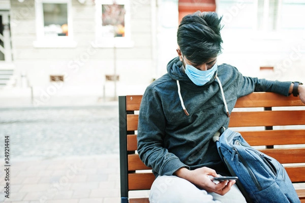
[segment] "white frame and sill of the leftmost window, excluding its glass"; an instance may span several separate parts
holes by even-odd
[[[44,34],[44,16],[43,4],[67,4],[68,9],[68,36],[48,37]],[[71,0],[40,0],[35,1],[36,11],[36,33],[37,41],[34,47],[41,48],[60,48],[60,47],[76,47],[77,43],[73,41],[73,23],[72,23],[72,1]]]

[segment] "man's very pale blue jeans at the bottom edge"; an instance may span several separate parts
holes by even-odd
[[[149,194],[150,203],[246,203],[236,184],[225,195],[208,193],[177,176],[159,176]]]

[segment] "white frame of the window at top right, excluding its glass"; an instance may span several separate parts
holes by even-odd
[[[255,27],[254,30],[256,31],[255,38],[264,38],[264,39],[281,39],[282,35],[280,33],[280,14],[281,14],[281,9],[282,9],[282,0],[279,0],[278,4],[278,16],[276,19],[277,27],[275,30],[268,30],[268,17],[269,17],[269,0],[264,0],[264,6],[263,6],[264,12],[263,12],[263,29],[258,30],[258,18],[257,18],[257,13],[258,13],[258,0],[256,0],[256,12],[255,12]]]

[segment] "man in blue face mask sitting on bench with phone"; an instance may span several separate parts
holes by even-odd
[[[212,137],[228,127],[237,98],[253,91],[293,92],[305,103],[301,83],[244,77],[229,64],[217,65],[220,22],[213,12],[184,17],[177,31],[178,57],[143,95],[138,153],[157,177],[150,202],[246,202],[235,181],[211,181],[229,175]]]

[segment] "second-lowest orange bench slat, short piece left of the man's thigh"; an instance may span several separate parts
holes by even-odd
[[[149,190],[155,180],[153,173],[128,174],[129,190]]]

